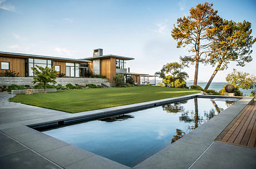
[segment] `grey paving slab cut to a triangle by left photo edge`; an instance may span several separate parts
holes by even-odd
[[[0,132],[1,148],[0,156],[8,155],[13,152],[26,150],[27,147],[22,146],[18,142]]]

